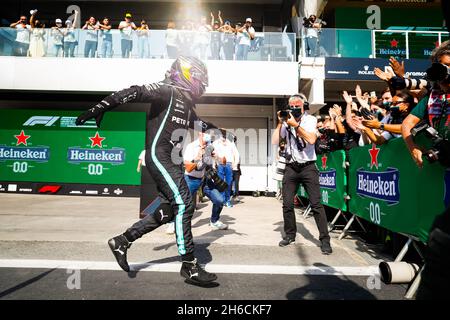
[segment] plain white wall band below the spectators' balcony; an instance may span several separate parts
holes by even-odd
[[[173,60],[0,57],[0,89],[113,92],[163,79]],[[208,61],[208,95],[283,96],[298,88],[298,63]]]

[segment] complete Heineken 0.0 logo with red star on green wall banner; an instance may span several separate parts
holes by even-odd
[[[103,145],[106,137],[102,137],[98,132],[93,137],[89,137],[90,144],[86,148],[70,147],[67,150],[67,161],[72,164],[87,163],[89,175],[103,175],[104,170],[108,170],[107,165],[121,165],[125,163],[125,149],[111,148],[104,149]]]

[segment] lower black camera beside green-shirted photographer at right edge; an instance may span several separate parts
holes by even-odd
[[[444,167],[450,167],[450,141],[443,138],[436,129],[426,121],[421,121],[411,129],[414,142],[426,151],[423,155],[428,162],[439,161]]]

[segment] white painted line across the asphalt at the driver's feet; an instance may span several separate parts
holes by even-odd
[[[130,263],[132,271],[179,272],[181,263]],[[121,271],[116,262],[108,261],[71,261],[71,260],[24,260],[0,259],[0,268],[39,268],[73,270]],[[205,269],[215,273],[238,274],[277,274],[277,275],[342,275],[372,276],[378,275],[377,266],[367,267],[331,267],[331,266],[281,266],[281,265],[231,265],[206,264]],[[0,270],[1,272],[1,270]]]

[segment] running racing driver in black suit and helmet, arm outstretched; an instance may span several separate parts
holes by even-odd
[[[178,253],[182,260],[181,276],[198,285],[217,279],[215,274],[205,271],[195,258],[191,232],[194,202],[184,179],[183,164],[176,164],[171,158],[176,145],[171,140],[174,130],[185,129],[187,132],[188,128],[194,128],[194,124],[196,128],[200,126],[202,131],[217,128],[199,119],[195,113],[194,101],[205,92],[207,86],[208,71],[205,64],[194,57],[180,56],[163,81],[115,92],[77,118],[77,125],[95,118],[100,127],[103,114],[120,104],[133,101],[151,103],[145,163],[162,201],[153,214],[108,241],[117,262],[126,272],[130,271],[127,249],[132,242],[174,220]]]

